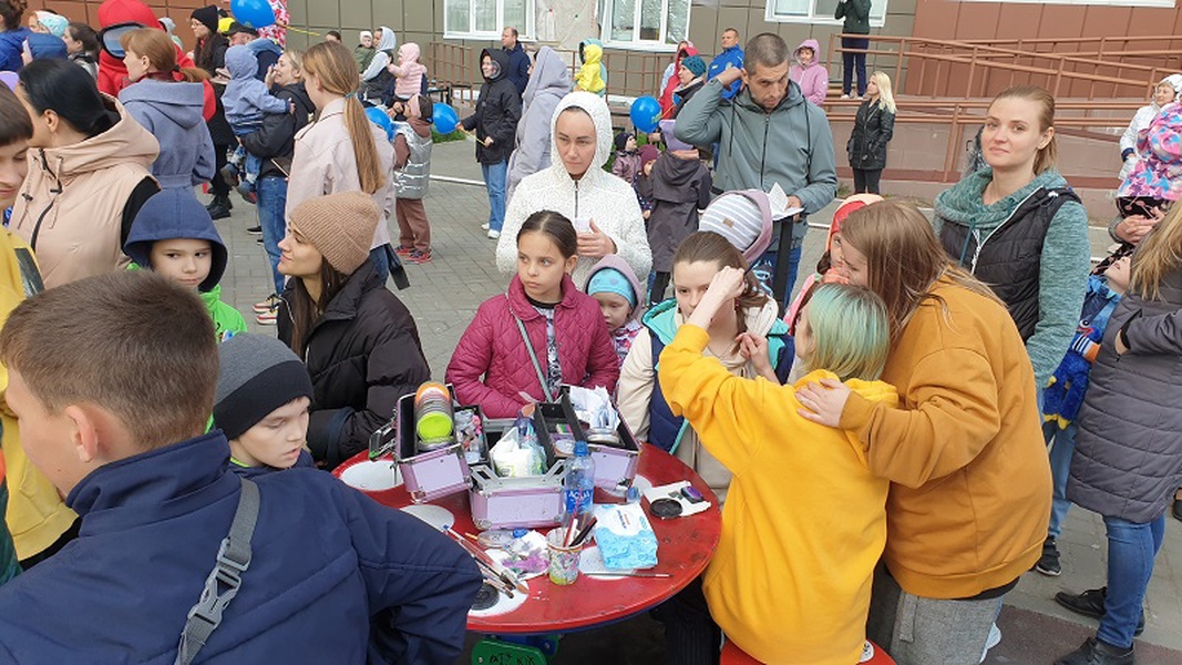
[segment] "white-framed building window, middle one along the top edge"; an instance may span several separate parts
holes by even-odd
[[[669,51],[689,38],[689,0],[606,0],[603,40],[608,46]]]

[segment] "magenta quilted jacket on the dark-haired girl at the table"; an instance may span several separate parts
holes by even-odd
[[[493,296],[476,310],[447,366],[447,381],[462,405],[480,405],[488,418],[513,418],[525,406],[519,392],[545,401],[517,315],[524,323],[541,370],[546,370],[546,318],[530,304],[521,279],[513,276],[507,295]],[[563,383],[616,389],[619,359],[599,303],[563,278],[563,302],[554,308],[558,361]],[[481,381],[483,376],[483,381]]]

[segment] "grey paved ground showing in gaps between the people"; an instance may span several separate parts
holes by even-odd
[[[470,142],[436,146],[433,170],[435,175],[450,179],[480,181]],[[232,196],[233,217],[217,222],[230,253],[229,270],[222,279],[222,298],[247,316],[253,331],[273,331],[273,327],[255,325],[251,315],[251,305],[271,291],[262,246],[246,233],[248,226],[256,224],[254,207],[236,194]],[[814,221],[827,224],[833,208],[836,205],[814,215]],[[427,212],[431,220],[434,260],[407,266],[411,286],[397,295],[418,323],[433,375],[442,379],[452,351],[476,308],[502,292],[508,277],[496,271],[495,243],[480,231],[488,215],[482,187],[433,181]],[[391,220],[390,226],[397,238],[397,224]],[[1103,230],[1093,230],[1092,253],[1102,253],[1108,244]],[[801,265],[816,265],[823,246],[824,233],[811,232]],[[1182,664],[1182,523],[1173,518],[1167,522],[1165,544],[1157,557],[1145,601],[1145,633],[1137,646],[1141,665]],[[1056,657],[1076,648],[1095,630],[1093,621],[1061,609],[1053,596],[1059,590],[1074,592],[1104,583],[1106,553],[1100,518],[1080,509],[1072,510],[1060,549],[1064,555],[1061,577],[1026,575],[1018,589],[1006,598],[1000,619],[1004,639],[988,663],[1048,665]],[[650,665],[657,661],[654,656],[663,656],[660,640],[660,627],[641,616],[603,631],[569,635],[556,663],[599,663],[608,658],[616,663]],[[617,646],[621,644],[635,645],[630,651],[638,656],[621,654]]]

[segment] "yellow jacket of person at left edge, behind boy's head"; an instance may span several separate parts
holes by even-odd
[[[0,228],[0,325],[7,321],[8,312],[40,288],[32,257],[24,240]],[[77,516],[66,508],[48,478],[25,457],[17,419],[4,401],[7,388],[8,370],[0,364],[0,426],[4,427],[0,445],[4,447],[5,477],[8,480],[5,518],[17,545],[17,557],[24,560],[53,544]]]

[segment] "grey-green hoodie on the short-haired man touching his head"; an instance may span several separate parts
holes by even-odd
[[[715,187],[768,192],[778,182],[800,199],[805,213],[829,205],[837,194],[837,169],[825,111],[806,104],[800,86],[791,82],[771,114],[746,88],[732,101],[722,99],[722,91],[717,79],[709,80],[682,106],[674,131],[691,146],[719,143]]]

